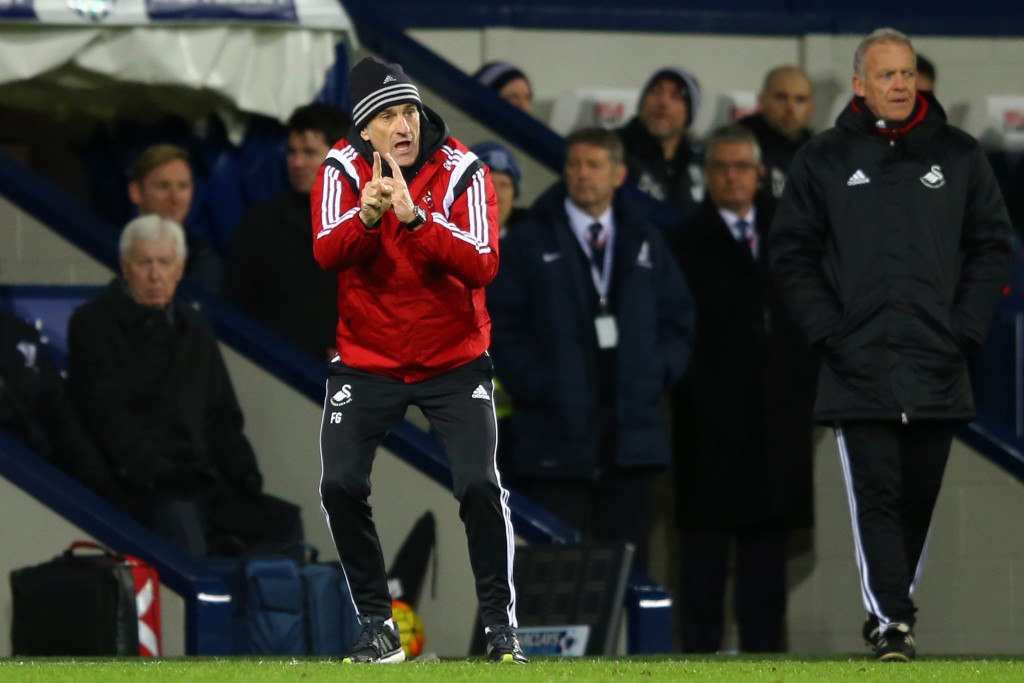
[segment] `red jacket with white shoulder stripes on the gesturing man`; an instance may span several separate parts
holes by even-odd
[[[498,272],[498,200],[487,167],[435,114],[421,120],[421,136],[424,128],[433,129],[434,143],[425,142],[419,169],[407,177],[413,202],[427,213],[416,231],[393,211],[377,228],[362,224],[359,194],[373,166],[348,139],[328,153],[310,198],[313,255],[338,273],[342,361],[404,382],[487,350],[484,287]]]

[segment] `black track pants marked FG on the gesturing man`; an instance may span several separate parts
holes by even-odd
[[[508,492],[495,460],[497,418],[490,358],[407,384],[330,366],[321,424],[321,502],[360,614],[391,614],[391,597],[374,524],[370,472],[384,435],[417,405],[444,446],[483,625],[516,626],[514,537]]]

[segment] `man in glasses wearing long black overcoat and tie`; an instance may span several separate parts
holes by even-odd
[[[813,519],[814,365],[769,286],[757,138],[733,124],[707,151],[708,198],[674,245],[697,306],[673,394],[683,649],[721,648],[734,552],[739,648],[781,651],[790,531]]]

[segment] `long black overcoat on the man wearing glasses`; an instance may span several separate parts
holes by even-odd
[[[757,259],[710,201],[674,244],[697,307],[693,358],[673,392],[682,528],[812,523],[815,359],[770,287],[771,209],[759,201]]]

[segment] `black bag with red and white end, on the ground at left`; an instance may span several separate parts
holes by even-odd
[[[76,555],[80,549],[100,554]],[[143,562],[91,542],[77,542],[63,554],[10,572],[15,655],[138,655],[140,616],[136,577],[156,591],[156,572]],[[144,574],[144,577],[142,575]],[[159,594],[157,594],[159,595]],[[159,654],[159,598],[154,612]]]

